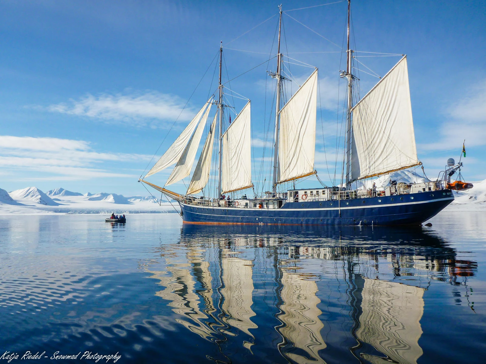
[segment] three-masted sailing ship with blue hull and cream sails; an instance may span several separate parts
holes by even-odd
[[[276,115],[273,144],[272,191],[252,198],[243,191],[253,188],[251,178],[251,101],[223,129],[224,84],[221,79],[223,46],[219,52],[219,95],[210,98],[194,116],[149,172],[139,179],[170,199],[176,200],[186,223],[206,224],[316,224],[316,225],[407,225],[420,224],[444,209],[454,199],[451,175],[461,163],[449,164],[442,179],[429,182],[390,181],[381,188],[365,188],[363,181],[406,168],[422,166],[417,158],[407,57],[399,62],[356,104],[353,105],[353,50],[349,48],[350,1],[347,4],[346,148],[342,183],[333,187],[295,188],[295,181],[316,175],[314,169],[318,69],[312,72],[295,94],[281,107],[282,57],[279,8]],[[185,194],[167,189],[190,176],[197,149],[213,104],[214,116],[206,142]],[[218,146],[217,192],[198,195],[211,174],[213,144]],[[175,165],[163,187],[146,178]],[[293,188],[285,188],[293,182]],[[361,186],[360,186],[361,183]],[[283,188],[282,188],[283,186]],[[262,190],[263,191],[263,190]],[[237,196],[238,194],[239,196]],[[231,200],[224,199],[232,194]]]

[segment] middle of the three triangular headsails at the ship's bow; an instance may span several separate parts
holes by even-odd
[[[191,174],[191,168],[194,164],[194,158],[196,157],[197,148],[199,147],[199,143],[201,141],[201,137],[203,136],[204,127],[206,126],[206,121],[208,120],[209,111],[211,110],[211,104],[209,104],[204,116],[201,118],[199,126],[197,127],[194,134],[192,134],[189,143],[187,144],[186,148],[182,152],[182,155],[179,158],[179,161],[174,167],[169,179],[165,183],[166,186],[179,182],[183,178],[186,178]]]

